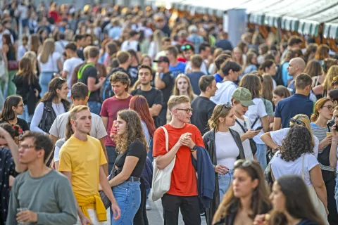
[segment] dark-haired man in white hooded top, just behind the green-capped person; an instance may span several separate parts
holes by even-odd
[[[238,79],[242,67],[238,63],[227,61],[222,65],[221,70],[224,75],[223,81],[217,83],[218,90],[215,96],[210,98],[215,104],[231,103],[232,93],[237,89],[234,81]]]

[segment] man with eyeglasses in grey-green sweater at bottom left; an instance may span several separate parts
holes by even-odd
[[[46,167],[53,150],[48,136],[32,132],[23,136],[19,162],[28,170],[15,178],[11,189],[7,224],[75,224],[76,205],[65,176]]]

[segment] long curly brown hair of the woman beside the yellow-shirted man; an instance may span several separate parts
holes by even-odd
[[[134,141],[141,141],[146,147],[146,138],[139,115],[134,110],[121,110],[118,112],[118,117],[127,122],[125,134],[114,137],[118,153],[124,153]]]

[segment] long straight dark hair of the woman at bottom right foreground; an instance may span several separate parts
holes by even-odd
[[[280,191],[284,194],[285,208],[292,217],[308,219],[318,225],[324,224],[317,210],[313,207],[308,188],[306,188],[300,176],[282,176],[275,182],[280,186]],[[270,224],[284,225],[288,223],[285,214],[273,210],[271,215]]]

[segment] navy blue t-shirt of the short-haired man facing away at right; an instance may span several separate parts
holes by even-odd
[[[282,119],[282,128],[289,127],[292,117],[298,114],[305,114],[311,118],[313,112],[313,101],[308,96],[293,94],[289,98],[280,100],[275,109],[275,117]]]

